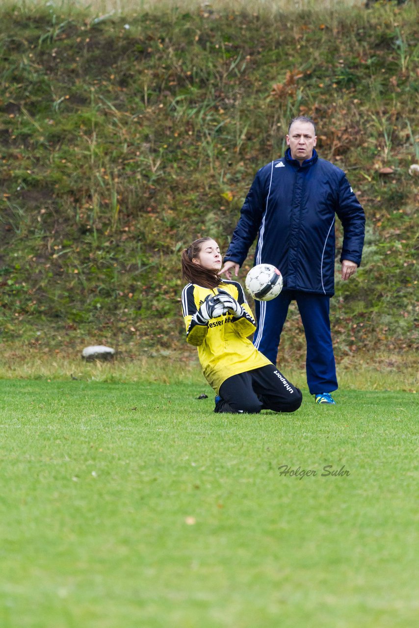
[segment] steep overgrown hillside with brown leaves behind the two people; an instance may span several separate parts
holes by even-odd
[[[332,300],[337,352],[413,346],[416,3],[0,11],[6,342],[183,346],[180,251],[207,234],[227,247],[254,173],[303,113],[367,215],[362,268]],[[285,348],[300,355],[298,326],[293,310]]]

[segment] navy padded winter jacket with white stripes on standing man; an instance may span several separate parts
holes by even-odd
[[[259,232],[255,264],[274,264],[285,290],[334,294],[335,214],[342,222],[342,259],[361,263],[365,215],[344,171],[318,158],[291,158],[261,168],[241,209],[224,262],[241,264]]]

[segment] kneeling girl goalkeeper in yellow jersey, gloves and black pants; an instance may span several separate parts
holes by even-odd
[[[220,249],[212,238],[182,252],[187,342],[198,348],[204,376],[215,390],[214,412],[293,412],[302,394],[249,340],[256,324],[242,287],[217,274]]]

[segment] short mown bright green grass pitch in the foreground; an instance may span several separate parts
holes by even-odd
[[[415,394],[222,416],[202,392],[0,381],[2,628],[413,627]]]

